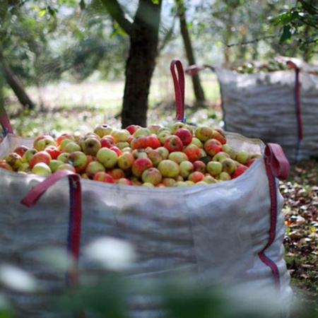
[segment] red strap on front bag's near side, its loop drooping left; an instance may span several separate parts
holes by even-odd
[[[69,235],[67,249],[71,256],[76,260],[76,268],[67,276],[67,283],[73,284],[77,281],[78,269],[77,262],[79,257],[79,248],[81,241],[81,176],[70,170],[59,170],[49,175],[42,182],[35,185],[20,201],[21,204],[32,207],[40,199],[49,187],[63,177],[69,178],[70,208],[69,208]]]

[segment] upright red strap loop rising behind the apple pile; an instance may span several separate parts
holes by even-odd
[[[177,67],[177,74],[175,73]],[[185,122],[184,117],[184,71],[182,63],[179,60],[172,60],[170,64],[170,71],[172,73],[173,84],[175,87],[175,106],[177,110],[176,119]]]

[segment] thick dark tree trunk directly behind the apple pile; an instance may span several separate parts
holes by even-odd
[[[146,126],[148,95],[158,54],[158,30],[162,1],[140,0],[130,33],[129,57],[122,108],[122,127]]]

